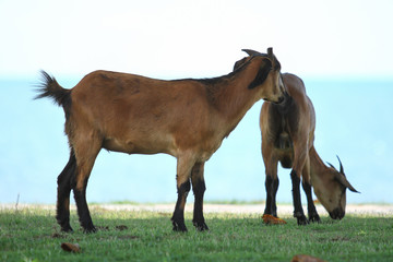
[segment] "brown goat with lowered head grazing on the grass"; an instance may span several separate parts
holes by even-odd
[[[257,51],[243,50],[255,56]],[[235,63],[241,67],[251,57]],[[285,100],[278,104],[264,103],[261,109],[260,128],[262,133],[262,156],[266,174],[266,206],[264,214],[277,217],[276,192],[278,189],[277,164],[291,168],[294,216],[299,225],[320,222],[312,201],[311,184],[314,192],[333,219],[345,215],[346,189],[357,192],[344,175],[340,162],[340,171],[331,164],[325,166],[314,146],[315,112],[301,79],[294,74],[282,75]],[[338,158],[340,160],[340,158]],[[309,221],[306,218],[300,200],[300,176],[307,195]]]

